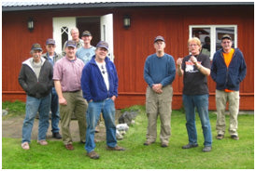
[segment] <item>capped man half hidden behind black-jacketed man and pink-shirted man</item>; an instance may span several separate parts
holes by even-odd
[[[46,50],[47,52],[42,55],[43,58],[47,59],[50,64],[53,65],[58,59],[61,59],[61,54],[55,52],[55,40],[52,38],[47,39],[46,41]],[[51,132],[53,138],[62,138],[59,128],[60,122],[60,110],[59,110],[59,99],[56,93],[55,87],[51,89],[51,102],[50,102],[50,111],[51,111]]]

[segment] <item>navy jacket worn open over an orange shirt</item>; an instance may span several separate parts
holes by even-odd
[[[218,50],[212,60],[210,75],[216,82],[216,89],[239,91],[239,85],[246,77],[247,65],[242,52],[235,48],[229,67],[223,58],[223,49]]]

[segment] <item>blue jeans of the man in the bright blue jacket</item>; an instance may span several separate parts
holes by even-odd
[[[116,125],[115,125],[115,103],[112,99],[106,99],[104,101],[90,102],[88,103],[88,109],[86,112],[86,143],[85,150],[91,152],[96,147],[94,143],[95,126],[102,112],[107,133],[107,146],[116,147]]]

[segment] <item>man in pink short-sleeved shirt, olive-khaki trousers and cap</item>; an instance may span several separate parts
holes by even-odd
[[[84,63],[76,58],[76,42],[69,40],[65,45],[65,57],[59,59],[53,68],[53,80],[59,97],[61,127],[64,147],[73,151],[73,141],[69,129],[72,114],[78,119],[80,142],[85,143],[87,102],[82,97],[81,72]]]

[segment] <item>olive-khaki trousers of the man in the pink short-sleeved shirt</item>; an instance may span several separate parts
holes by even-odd
[[[61,127],[64,145],[72,144],[72,137],[69,130],[69,124],[74,112],[78,119],[79,136],[82,142],[85,142],[86,135],[86,119],[85,113],[87,110],[87,101],[82,97],[82,91],[64,92],[64,99],[67,105],[60,105]]]

